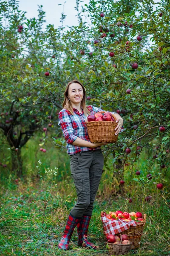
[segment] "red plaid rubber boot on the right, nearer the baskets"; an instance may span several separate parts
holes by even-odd
[[[96,246],[90,243],[87,239],[88,235],[88,226],[91,220],[91,216],[83,215],[81,221],[77,225],[77,233],[78,233],[78,245],[82,247],[87,247],[89,249],[96,249]]]

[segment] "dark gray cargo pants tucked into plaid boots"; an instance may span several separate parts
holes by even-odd
[[[75,218],[92,215],[93,204],[102,177],[104,159],[101,149],[82,151],[70,156],[71,176],[77,192],[77,203],[71,209]]]

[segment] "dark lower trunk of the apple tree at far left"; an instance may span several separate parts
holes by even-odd
[[[18,148],[17,151],[15,151],[15,149],[11,149],[11,160],[11,171],[15,172],[17,177],[21,177],[23,175],[23,161],[20,148]]]

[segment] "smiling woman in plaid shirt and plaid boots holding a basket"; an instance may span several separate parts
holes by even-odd
[[[100,147],[106,144],[90,142],[85,120],[88,115],[102,110],[94,106],[86,106],[85,98],[83,85],[77,80],[69,82],[64,93],[63,109],[59,112],[59,125],[67,142],[67,152],[71,158],[71,175],[78,198],[71,209],[64,234],[58,244],[62,250],[68,250],[68,244],[76,226],[78,245],[96,249],[96,246],[87,240],[87,233],[104,165]],[[118,134],[122,128],[123,119],[119,114],[112,113],[117,118],[118,125],[115,130]]]

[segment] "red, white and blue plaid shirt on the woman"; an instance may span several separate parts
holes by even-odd
[[[88,110],[91,112],[91,115],[94,115],[99,111],[103,111],[102,109],[94,107],[92,105],[88,106]],[[82,140],[86,140],[90,142],[86,123],[85,123],[85,121],[87,120],[87,116],[85,116],[83,109],[82,109],[82,113],[79,113],[79,111],[76,108],[73,108],[73,111],[74,111],[74,115],[71,115],[71,113],[65,108],[63,108],[59,112],[58,124],[61,126],[62,133],[67,142],[67,153],[69,155],[73,155],[80,151],[99,149],[100,147],[88,148],[88,147],[79,147],[72,144],[77,139],[77,137],[79,137]],[[111,113],[116,114],[116,112],[111,112]]]

